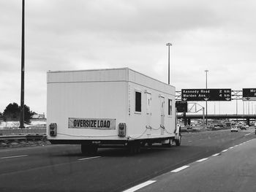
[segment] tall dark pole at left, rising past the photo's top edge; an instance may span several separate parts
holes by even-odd
[[[22,0],[22,32],[21,32],[21,88],[20,88],[20,128],[24,127],[24,55],[25,55],[25,0]]]

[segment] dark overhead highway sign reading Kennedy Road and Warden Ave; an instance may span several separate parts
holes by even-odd
[[[230,88],[181,89],[182,101],[231,101]]]

